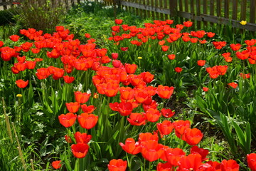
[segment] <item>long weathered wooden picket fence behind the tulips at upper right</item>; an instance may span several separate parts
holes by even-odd
[[[127,11],[142,17],[196,21],[197,28],[210,24],[230,24],[235,28],[256,31],[256,0],[105,0],[119,4]],[[247,21],[241,25],[240,21]]]

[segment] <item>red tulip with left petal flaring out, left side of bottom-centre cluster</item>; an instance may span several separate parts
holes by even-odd
[[[122,142],[119,142],[119,145],[125,152],[131,155],[137,155],[141,151],[139,142],[135,142],[133,138],[127,138],[127,140],[125,140],[125,145]]]

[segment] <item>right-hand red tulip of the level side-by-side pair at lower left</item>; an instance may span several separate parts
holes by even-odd
[[[97,115],[82,113],[81,115],[78,115],[78,122],[82,128],[90,130],[95,127],[98,118],[99,116]]]

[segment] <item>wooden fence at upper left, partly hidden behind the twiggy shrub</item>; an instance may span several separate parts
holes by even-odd
[[[24,0],[0,0],[0,10],[9,9],[14,6],[18,6]],[[40,0],[38,0],[40,1]],[[74,6],[75,4],[80,4],[80,0],[60,0],[65,4],[65,8],[68,9],[70,6]]]

